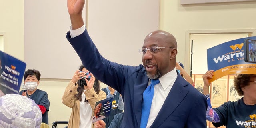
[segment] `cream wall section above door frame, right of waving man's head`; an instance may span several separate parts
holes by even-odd
[[[255,1],[182,6],[180,0],[160,0],[160,30],[166,30],[176,37],[177,61],[182,62],[188,72],[190,52],[186,50],[190,50],[190,46],[186,45],[187,30],[223,32],[233,29],[255,29],[255,6]],[[202,63],[194,65],[200,66]]]

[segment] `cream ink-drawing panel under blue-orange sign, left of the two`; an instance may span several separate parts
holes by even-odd
[[[227,100],[228,76],[213,81],[211,86],[212,106],[220,106]]]

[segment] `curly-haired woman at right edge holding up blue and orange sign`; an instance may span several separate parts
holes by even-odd
[[[212,78],[213,70],[203,75],[204,92],[207,97],[208,109],[206,118],[215,127],[226,126],[226,128],[254,128],[256,126],[256,75],[237,74],[234,77],[234,88],[241,99],[228,101],[218,108],[212,108],[208,80]]]

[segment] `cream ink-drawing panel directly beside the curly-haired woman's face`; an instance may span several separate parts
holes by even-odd
[[[228,100],[229,101],[237,101],[238,99],[242,98],[242,96],[239,96],[234,88],[234,76],[235,75],[228,75],[229,81],[228,81]]]

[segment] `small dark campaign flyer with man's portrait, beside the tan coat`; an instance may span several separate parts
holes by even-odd
[[[114,97],[109,97],[104,100],[97,101],[95,103],[94,115],[92,117],[92,123],[102,120],[109,116],[111,111],[111,106]]]

